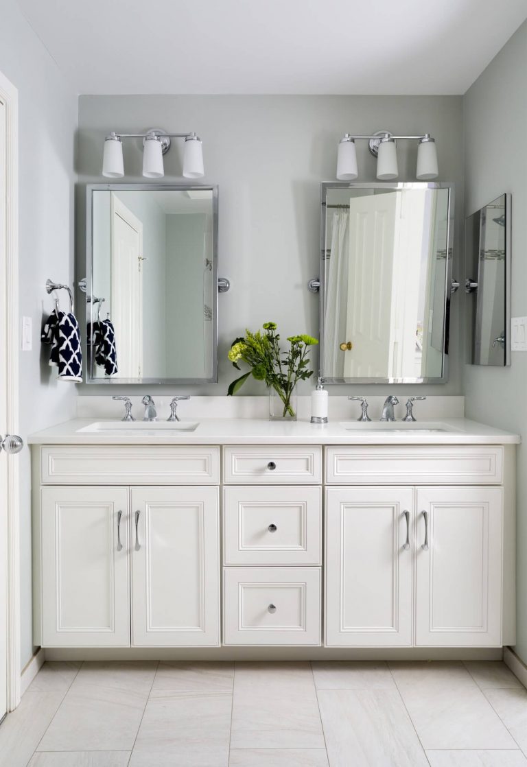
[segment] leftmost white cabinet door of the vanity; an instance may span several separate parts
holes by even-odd
[[[128,490],[41,490],[44,647],[130,644]]]

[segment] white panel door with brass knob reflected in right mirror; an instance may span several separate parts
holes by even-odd
[[[351,197],[344,376],[388,377],[397,193]]]

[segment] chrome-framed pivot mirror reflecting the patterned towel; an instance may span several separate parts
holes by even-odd
[[[88,186],[87,383],[216,381],[217,200],[213,186]]]

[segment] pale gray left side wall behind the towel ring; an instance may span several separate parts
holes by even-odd
[[[33,319],[33,351],[20,354],[20,431],[28,433],[74,415],[73,384],[59,384],[41,348],[44,314],[54,304],[46,279],[73,279],[74,140],[77,97],[18,11],[0,2],[0,71],[18,88],[20,315]],[[64,301],[65,298],[65,301]],[[62,305],[68,298],[61,297]],[[0,429],[1,431],[1,429]],[[21,470],[21,666],[31,658],[30,456]]]

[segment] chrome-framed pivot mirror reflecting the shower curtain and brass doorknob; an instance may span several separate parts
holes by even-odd
[[[447,379],[453,186],[324,183],[321,376]]]

